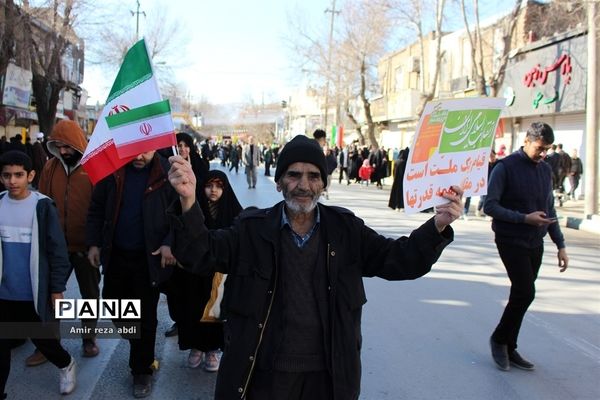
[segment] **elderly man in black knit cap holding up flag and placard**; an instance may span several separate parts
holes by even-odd
[[[245,212],[230,228],[202,229],[195,178],[179,157],[169,180],[180,195],[173,251],[197,273],[228,274],[225,349],[216,399],[358,399],[362,278],[418,278],[453,239],[460,189],[410,237],[393,240],[352,212],[318,204],[327,185],[323,152],[297,136],[282,150],[275,181],[284,201]]]

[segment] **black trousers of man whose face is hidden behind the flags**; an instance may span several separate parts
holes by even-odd
[[[154,362],[154,344],[158,324],[156,307],[159,290],[150,285],[150,272],[144,251],[125,251],[114,248],[111,263],[104,275],[102,297],[105,299],[139,299],[142,316],[139,322],[140,339],[129,340],[129,367],[133,375],[152,374]],[[114,320],[119,327],[121,322]]]

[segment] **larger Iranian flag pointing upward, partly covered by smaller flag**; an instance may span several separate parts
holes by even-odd
[[[144,39],[129,49],[98,118],[81,165],[93,184],[112,174],[135,155],[121,158],[106,123],[106,117],[161,101],[158,84]]]

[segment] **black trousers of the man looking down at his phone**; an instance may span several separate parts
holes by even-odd
[[[535,298],[535,280],[542,265],[544,247],[528,249],[503,243],[496,243],[496,247],[511,287],[508,304],[492,338],[497,343],[506,344],[508,350],[512,351],[517,348],[521,323]]]

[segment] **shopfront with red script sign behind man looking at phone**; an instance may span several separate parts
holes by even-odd
[[[504,132],[496,143],[516,149],[527,128],[541,121],[554,129],[555,142],[585,160],[587,32],[583,28],[539,40],[516,51],[509,60],[501,94]],[[585,179],[585,174],[583,179]],[[583,193],[582,182],[579,191]]]

